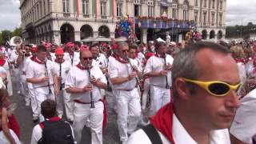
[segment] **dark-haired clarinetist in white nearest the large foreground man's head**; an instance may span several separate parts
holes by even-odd
[[[154,115],[162,106],[170,102],[171,66],[174,62],[166,54],[166,43],[157,42],[154,56],[146,62],[144,75],[150,77],[150,115]]]

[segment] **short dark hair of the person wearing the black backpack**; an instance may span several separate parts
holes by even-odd
[[[41,113],[44,118],[53,118],[56,116],[57,103],[54,100],[46,99],[41,103]]]

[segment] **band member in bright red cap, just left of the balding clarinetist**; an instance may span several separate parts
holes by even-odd
[[[56,59],[54,60],[54,69],[57,72],[59,82],[60,82],[59,90],[61,90],[60,94],[57,97],[58,117],[62,118],[63,99],[64,99],[64,105],[65,105],[65,109],[66,109],[66,117],[67,117],[68,121],[73,122],[73,120],[74,120],[74,117],[73,117],[74,102],[71,102],[70,94],[66,93],[66,90],[64,90],[66,75],[70,71],[71,64],[70,64],[70,62],[65,61],[63,59],[64,51],[62,50],[62,47],[58,47],[57,50],[55,50],[55,57],[56,57]]]

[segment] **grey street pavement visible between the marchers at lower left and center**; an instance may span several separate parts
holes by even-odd
[[[12,102],[17,104],[17,109],[15,110],[15,117],[18,120],[21,132],[21,142],[23,144],[30,144],[31,134],[33,127],[37,124],[32,121],[32,110],[30,106],[25,106],[24,98],[17,94],[17,88],[14,87],[14,82],[17,80],[12,77],[14,95],[11,96]],[[117,115],[114,114],[114,110],[110,106],[110,102],[113,100],[113,96],[107,95],[107,125],[106,129],[103,131],[103,144],[118,144],[119,136],[118,136],[118,125],[117,125]],[[85,128],[82,134],[82,144],[90,143],[90,133]]]

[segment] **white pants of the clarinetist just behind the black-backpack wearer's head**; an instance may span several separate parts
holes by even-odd
[[[50,86],[51,91],[49,92],[48,86],[46,87],[40,87],[40,88],[35,88],[34,89],[34,95],[37,101],[37,106],[38,106],[38,114],[39,114],[39,121],[43,122],[44,118],[41,114],[41,103],[45,101],[46,99],[52,99],[55,100],[54,97],[54,86]]]

